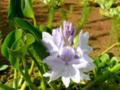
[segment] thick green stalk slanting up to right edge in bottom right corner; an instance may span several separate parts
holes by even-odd
[[[120,70],[120,64],[115,65],[113,68],[111,68],[109,71],[106,71],[103,75],[99,75],[94,81],[90,82],[86,87],[84,87],[82,90],[89,90],[91,87],[96,85],[99,82],[103,82],[106,79],[110,77],[112,73],[115,73]]]

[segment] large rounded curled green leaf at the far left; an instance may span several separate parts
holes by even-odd
[[[4,57],[6,57],[9,60],[9,62],[11,63],[11,65],[13,65],[13,67],[17,67],[19,61],[17,60],[18,58],[16,56],[16,53],[11,54],[10,51],[20,48],[22,44],[22,42],[20,42],[21,38],[22,38],[22,30],[18,29],[10,32],[2,44],[1,53],[3,54]]]

